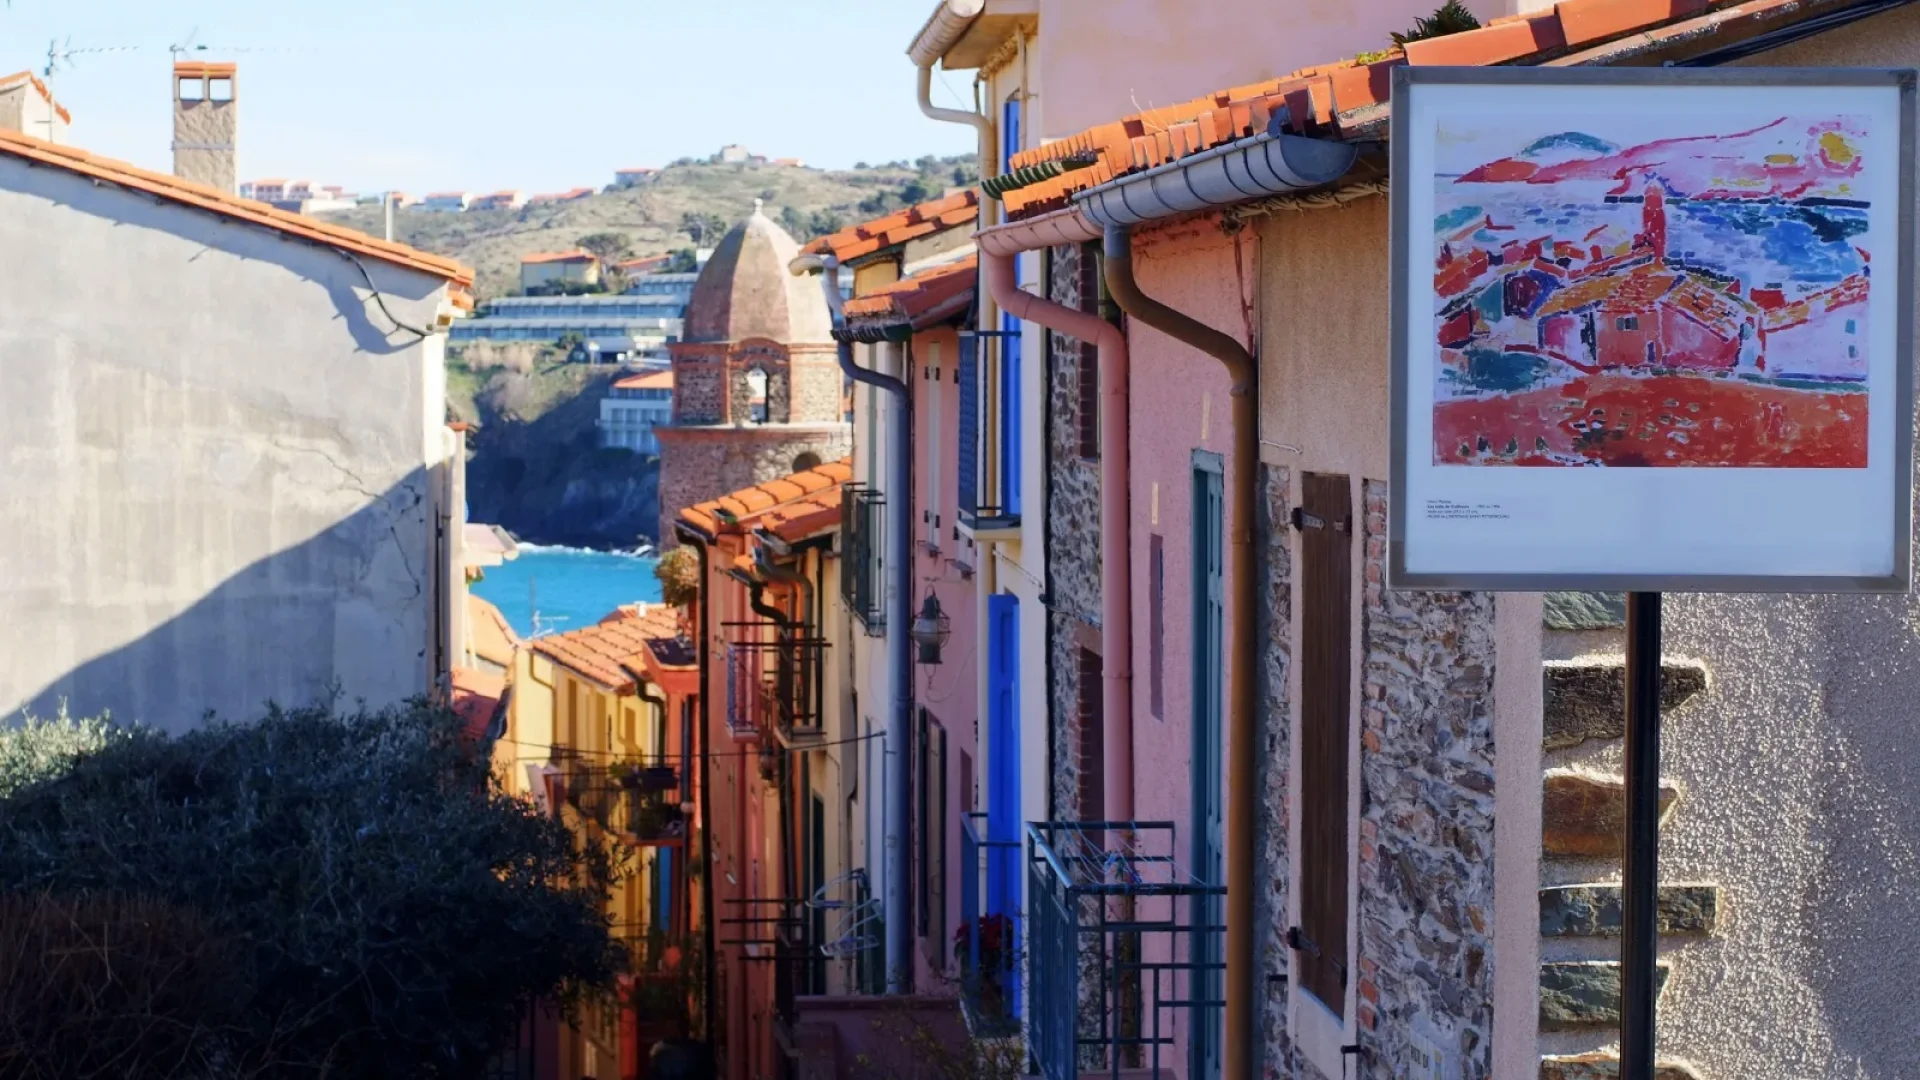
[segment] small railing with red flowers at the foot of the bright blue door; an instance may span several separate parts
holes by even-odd
[[[979,1038],[1020,1030],[1016,903],[1006,896],[1018,880],[1020,842],[987,840],[987,815],[960,817],[960,926],[954,959],[960,965],[960,1009]],[[996,896],[998,894],[998,896]]]

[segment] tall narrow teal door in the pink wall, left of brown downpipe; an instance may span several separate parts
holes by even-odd
[[[1221,705],[1225,698],[1225,588],[1221,573],[1221,457],[1194,454],[1192,473],[1192,872],[1202,884],[1225,884],[1221,847],[1225,821],[1221,813]],[[1244,586],[1244,582],[1242,582]],[[1235,748],[1246,753],[1246,748]],[[1223,961],[1219,926],[1223,919],[1217,896],[1194,897],[1194,961],[1192,992],[1192,1065],[1188,1076],[1206,1080],[1219,1076],[1221,1013],[1225,980],[1215,970]],[[1202,930],[1208,928],[1208,930]]]

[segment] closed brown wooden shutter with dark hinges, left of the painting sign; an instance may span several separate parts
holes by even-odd
[[[1300,530],[1300,986],[1344,1017],[1354,511],[1308,473]]]

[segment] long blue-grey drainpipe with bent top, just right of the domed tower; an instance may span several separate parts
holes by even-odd
[[[887,994],[906,994],[914,980],[914,928],[908,920],[906,899],[910,896],[910,867],[906,851],[906,822],[912,815],[908,792],[908,748],[912,746],[914,717],[914,653],[906,628],[914,623],[912,586],[908,575],[914,565],[912,536],[912,452],[914,452],[914,396],[906,382],[893,375],[870,371],[852,361],[852,338],[847,334],[847,315],[841,309],[839,259],[833,256],[801,256],[787,267],[795,275],[820,273],[820,288],[826,292],[828,309],[833,311],[833,340],[839,344],[839,363],[847,379],[864,382],[891,398],[895,421],[887,425],[887,771],[885,771],[885,851],[887,880],[881,884],[881,911],[887,920]],[[902,357],[897,346],[895,357]],[[897,365],[906,371],[904,363]]]

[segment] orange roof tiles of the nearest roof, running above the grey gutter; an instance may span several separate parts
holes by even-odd
[[[1663,50],[1701,52],[1716,38],[1749,37],[1824,15],[1847,0],[1559,0],[1548,10],[1501,15],[1476,31],[1407,42],[1371,63],[1340,60],[1269,83],[1233,86],[1177,106],[1144,110],[1012,158],[1014,169],[1091,154],[1092,167],[1008,190],[1008,217],[1062,209],[1075,192],[1177,161],[1269,129],[1294,135],[1379,138],[1392,69],[1496,63],[1645,61]]]

